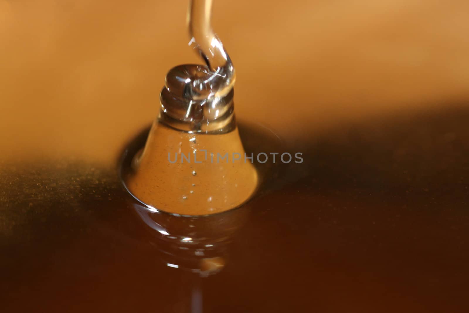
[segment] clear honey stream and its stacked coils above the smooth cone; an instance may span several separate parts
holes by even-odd
[[[206,65],[184,64],[166,74],[160,121],[189,132],[229,131],[234,127],[235,71],[211,26],[212,0],[189,4],[189,45]]]

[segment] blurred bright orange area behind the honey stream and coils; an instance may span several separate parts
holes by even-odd
[[[157,114],[186,0],[0,0],[0,148],[106,162]],[[466,0],[215,0],[238,117],[284,137],[469,99]]]

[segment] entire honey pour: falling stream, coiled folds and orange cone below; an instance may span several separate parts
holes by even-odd
[[[241,206],[257,172],[234,119],[235,70],[211,27],[212,1],[189,5],[189,45],[206,65],[176,66],[166,75],[161,109],[134,162],[127,187],[147,206],[182,215]]]

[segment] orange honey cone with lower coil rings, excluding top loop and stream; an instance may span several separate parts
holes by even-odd
[[[236,126],[233,89],[214,102],[186,104],[170,90],[163,88],[159,117],[134,158],[129,191],[147,206],[180,215],[241,206],[255,192],[258,176]]]

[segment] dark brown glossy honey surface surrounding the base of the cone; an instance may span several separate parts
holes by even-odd
[[[193,295],[203,312],[465,312],[468,118],[397,115],[303,145],[307,176],[248,203],[208,278],[166,264],[178,265],[112,174],[28,164],[69,194],[30,206],[8,197],[44,179],[4,171],[16,187],[1,182],[14,226],[2,231],[0,298],[7,312],[197,312]]]

